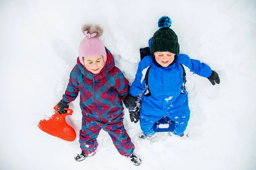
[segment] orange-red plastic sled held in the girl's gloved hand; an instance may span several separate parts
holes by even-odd
[[[76,131],[73,129],[73,127],[67,124],[65,117],[67,115],[72,115],[73,110],[65,108],[67,113],[59,114],[58,108],[59,106],[56,105],[53,109],[57,112],[49,119],[41,120],[38,127],[52,136],[72,142],[76,139]]]

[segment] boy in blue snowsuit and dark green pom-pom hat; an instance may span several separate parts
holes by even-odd
[[[173,134],[183,136],[187,127],[190,111],[188,96],[185,89],[186,75],[198,74],[206,77],[215,85],[220,83],[218,74],[205,63],[190,59],[180,53],[180,45],[171,26],[169,17],[161,17],[160,27],[149,40],[151,55],[143,58],[138,66],[137,74],[131,85],[130,92],[124,100],[127,108],[135,104],[136,97],[143,91],[141,110],[130,112],[130,117],[140,113],[140,127],[143,134],[140,138],[156,136],[153,125],[167,116],[175,122]],[[133,122],[133,120],[132,120]]]

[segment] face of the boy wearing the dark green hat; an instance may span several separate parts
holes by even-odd
[[[160,64],[163,67],[167,67],[169,64],[173,62],[175,54],[170,52],[157,51],[154,53],[154,56],[158,64]]]

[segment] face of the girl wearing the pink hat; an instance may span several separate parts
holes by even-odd
[[[105,65],[102,55],[94,57],[83,57],[83,60],[84,67],[93,74],[98,74]]]

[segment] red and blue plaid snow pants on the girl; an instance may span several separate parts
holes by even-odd
[[[83,116],[80,130],[80,147],[84,153],[92,153],[98,147],[97,137],[100,130],[108,132],[118,152],[123,156],[130,156],[134,151],[134,144],[123,125],[123,114],[108,122],[99,117]]]

